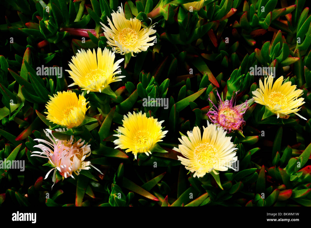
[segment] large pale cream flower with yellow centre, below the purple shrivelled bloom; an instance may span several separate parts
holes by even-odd
[[[230,141],[231,137],[226,137],[222,127],[216,128],[215,124],[209,124],[207,128],[203,126],[202,137],[200,128],[194,127],[187,135],[179,139],[181,145],[173,150],[184,156],[177,156],[178,160],[187,170],[194,172],[193,177],[203,177],[211,171],[218,174],[215,170],[234,169],[232,163],[237,161],[235,150],[238,148]]]

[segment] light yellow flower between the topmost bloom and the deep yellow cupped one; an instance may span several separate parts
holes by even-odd
[[[104,48],[103,52],[98,48],[97,54],[95,49],[93,49],[93,53],[91,49],[78,50],[77,55],[72,56],[72,63],[69,63],[72,71],[66,70],[74,81],[69,86],[78,85],[82,90],[87,90],[87,93],[90,91],[101,92],[111,82],[121,81],[121,78],[125,76],[115,77],[115,75],[121,72],[116,70],[119,69],[119,63],[124,58],[114,63],[114,57],[114,53],[107,48]]]

